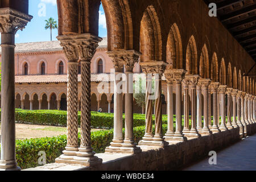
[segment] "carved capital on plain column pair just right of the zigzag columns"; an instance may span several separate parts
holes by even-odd
[[[134,64],[138,63],[140,52],[129,50],[129,51],[109,51],[107,52],[109,57],[112,58],[114,68],[116,71],[121,71],[125,67],[126,71],[132,72]]]

